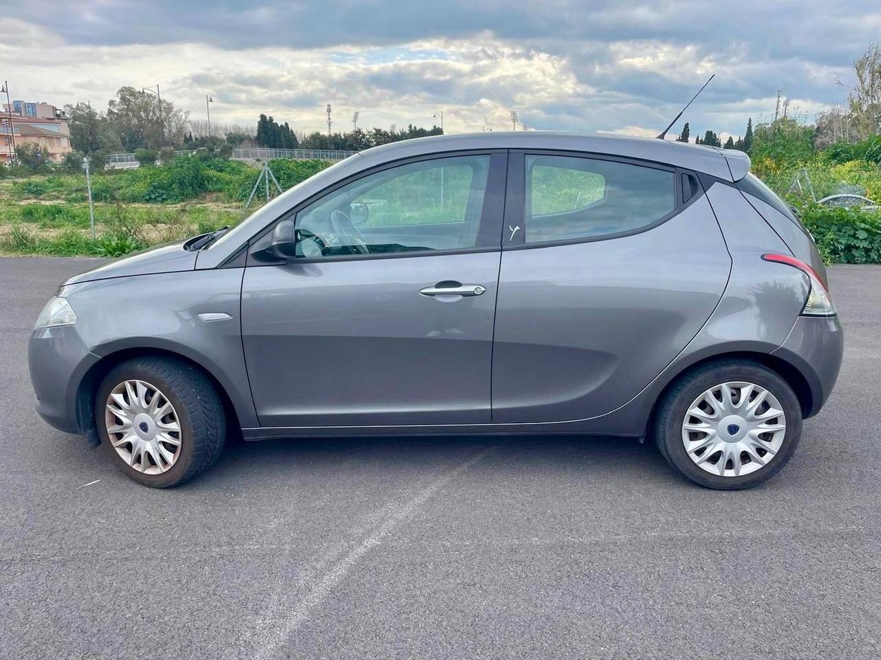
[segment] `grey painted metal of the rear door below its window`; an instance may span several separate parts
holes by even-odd
[[[560,422],[624,405],[722,297],[729,253],[700,197],[649,231],[502,255],[493,422]]]

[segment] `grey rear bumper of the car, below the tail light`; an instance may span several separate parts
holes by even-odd
[[[811,389],[811,409],[817,414],[838,379],[844,354],[844,331],[837,316],[800,316],[786,341],[771,354],[798,369]]]

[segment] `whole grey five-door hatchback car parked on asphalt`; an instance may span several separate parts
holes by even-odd
[[[838,376],[823,261],[744,153],[557,132],[362,151],[230,231],[71,277],[37,410],[146,486],[228,432],[649,438],[747,488]]]

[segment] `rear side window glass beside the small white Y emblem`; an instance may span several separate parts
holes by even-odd
[[[640,230],[676,209],[668,170],[595,158],[526,156],[526,243]]]

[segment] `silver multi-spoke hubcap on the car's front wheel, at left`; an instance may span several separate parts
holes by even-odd
[[[144,474],[170,470],[181,455],[181,424],[159,388],[126,380],[107,397],[107,436],[116,453]]]

